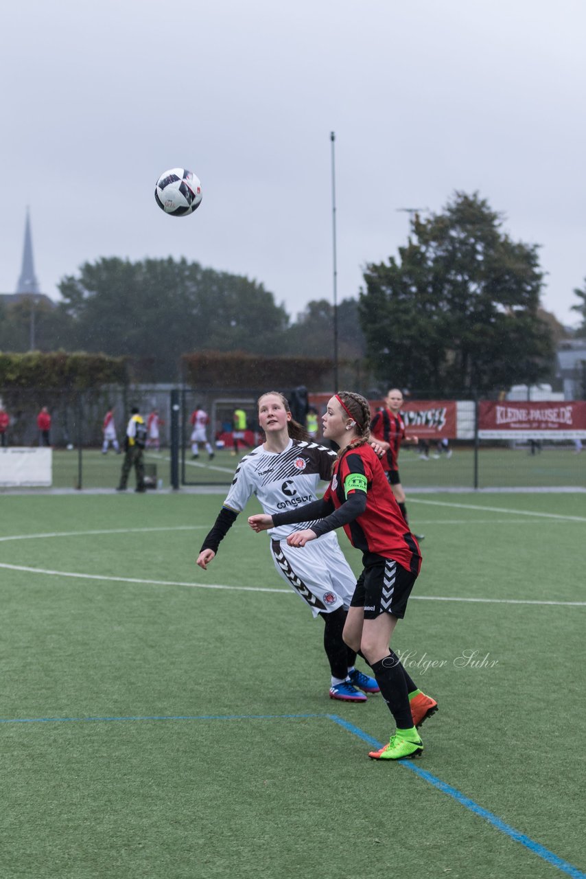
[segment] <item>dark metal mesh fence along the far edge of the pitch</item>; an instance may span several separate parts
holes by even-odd
[[[121,456],[112,447],[105,452],[102,449],[102,424],[109,407],[120,445],[132,406],[137,406],[145,419],[149,412],[158,410],[160,440],[157,446],[150,444],[145,449],[151,484],[227,487],[238,456],[262,441],[256,405],[261,393],[262,389],[136,385],[95,392],[0,390],[0,399],[11,418],[5,434],[10,446],[39,445],[38,412],[42,406],[51,412],[54,488],[113,490],[119,482]],[[377,402],[373,400],[373,405]],[[321,414],[322,403],[317,403]],[[213,459],[202,448],[197,458],[192,456],[191,418],[198,408],[209,415],[207,436],[213,446]],[[237,454],[231,444],[236,408],[244,410],[247,418]],[[458,401],[455,430],[447,443],[441,437],[428,437],[415,447],[403,444],[399,466],[407,490],[586,488],[586,448],[580,452],[579,441],[481,439],[478,409],[477,401]],[[409,426],[410,432],[416,429],[417,425]]]

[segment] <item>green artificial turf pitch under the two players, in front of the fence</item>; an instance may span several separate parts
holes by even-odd
[[[390,766],[266,535],[195,567],[221,499],[0,499],[0,877],[586,875],[586,495],[409,498],[394,649],[440,710]]]

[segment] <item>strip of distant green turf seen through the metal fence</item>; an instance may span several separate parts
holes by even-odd
[[[170,452],[147,450],[145,461],[155,464],[157,477],[163,485],[170,484]],[[83,449],[82,486],[114,488],[119,483],[122,456],[111,451],[101,454],[98,449]],[[406,447],[401,453],[402,482],[411,488],[474,488],[474,450],[457,447],[451,459],[442,456],[438,461],[422,461],[418,454]],[[192,461],[187,453],[184,478],[187,483],[215,483],[228,485],[235,469],[235,457],[227,450],[219,450],[213,461],[202,454]],[[481,447],[479,456],[479,488],[495,486],[580,486],[586,488],[586,452],[574,454],[574,447],[546,447],[540,454],[529,454],[526,447],[517,449]],[[53,453],[54,488],[77,488],[79,458],[76,450],[56,449]],[[130,484],[134,486],[134,474]],[[1,491],[1,490],[0,490]]]

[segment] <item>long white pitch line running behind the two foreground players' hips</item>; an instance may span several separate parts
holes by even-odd
[[[153,586],[188,586],[191,589],[227,589],[235,592],[280,592],[282,595],[293,595],[293,590],[270,588],[268,586],[230,586],[218,583],[184,583],[180,580],[147,580],[137,577],[105,577],[101,574],[80,574],[70,570],[49,570],[47,568],[29,568],[22,564],[0,563],[0,568],[24,571],[27,574],[41,574],[49,577],[71,577],[79,580],[101,580],[112,583],[133,583]],[[475,599],[452,596],[412,595],[419,601],[460,601],[481,604],[521,604],[547,605],[558,607],[586,607],[586,601],[538,601],[530,599]]]

